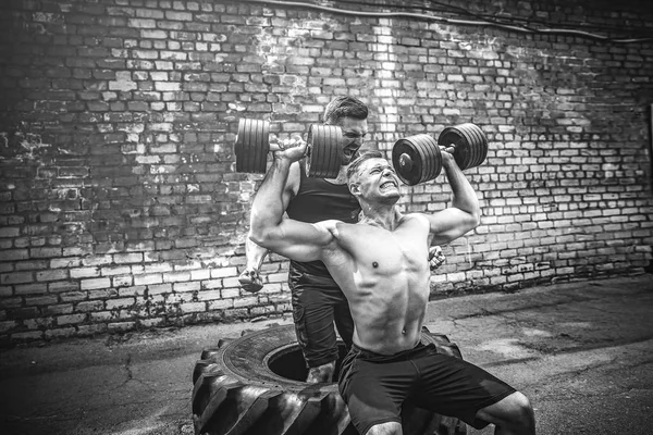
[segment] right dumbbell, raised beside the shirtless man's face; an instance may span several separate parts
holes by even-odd
[[[442,152],[453,153],[461,170],[475,167],[488,157],[488,138],[469,123],[446,127],[438,141],[429,135],[409,136],[393,146],[392,164],[402,182],[415,186],[440,175]]]

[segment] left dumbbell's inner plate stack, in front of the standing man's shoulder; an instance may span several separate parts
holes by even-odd
[[[308,130],[306,175],[335,178],[343,159],[343,135],[336,125],[313,124]]]

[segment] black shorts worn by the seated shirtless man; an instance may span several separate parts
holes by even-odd
[[[359,434],[375,424],[402,423],[404,401],[482,428],[488,422],[477,412],[516,391],[470,362],[439,353],[433,344],[394,356],[354,345],[343,360],[338,387]]]

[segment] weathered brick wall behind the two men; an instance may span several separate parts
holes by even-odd
[[[467,172],[482,224],[444,247],[434,295],[643,272],[651,40],[364,12],[640,38],[648,1],[368,3],[1,2],[0,341],[287,312],[282,258],[260,294],[236,285],[261,176],[234,172],[235,129],[306,132],[342,94],[370,104],[382,150],[463,122],[489,137]],[[402,208],[444,207],[443,182],[405,188]]]

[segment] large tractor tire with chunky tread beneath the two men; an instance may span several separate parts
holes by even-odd
[[[424,344],[461,358],[444,335],[422,332]],[[340,344],[341,358],[345,353]],[[193,372],[197,435],[357,435],[337,384],[307,384],[293,325],[223,339],[201,353]],[[464,435],[458,419],[404,407],[405,435]]]

